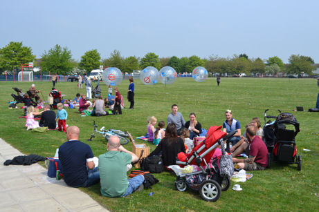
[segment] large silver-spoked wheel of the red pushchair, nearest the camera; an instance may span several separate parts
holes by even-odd
[[[221,197],[221,186],[215,180],[204,180],[199,187],[201,198],[208,202],[216,202]]]

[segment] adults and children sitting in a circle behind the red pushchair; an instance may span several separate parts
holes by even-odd
[[[175,164],[176,155],[179,152],[189,153],[194,147],[194,137],[202,133],[201,124],[197,121],[196,115],[190,113],[190,120],[185,122],[183,115],[178,112],[178,106],[172,105],[172,113],[167,116],[167,128],[163,130],[165,122],[158,122],[156,117],[147,119],[148,141],[156,144],[156,149],[151,155],[162,154],[165,166]],[[226,141],[226,152],[233,155],[233,162],[239,168],[248,171],[264,170],[268,166],[268,150],[264,144],[262,137],[262,127],[259,118],[254,117],[250,123],[246,125],[244,134],[241,135],[240,122],[233,118],[231,110],[225,112],[226,120],[223,123],[223,131],[236,133]],[[176,136],[174,131],[176,131]],[[170,142],[167,142],[170,141]],[[238,155],[245,153],[248,155],[246,159],[236,158]]]

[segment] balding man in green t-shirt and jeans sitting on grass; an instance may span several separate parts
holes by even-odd
[[[101,194],[107,197],[125,197],[143,184],[144,176],[137,175],[127,179],[127,165],[137,162],[138,157],[120,145],[120,139],[114,135],[107,143],[107,153],[100,155]]]

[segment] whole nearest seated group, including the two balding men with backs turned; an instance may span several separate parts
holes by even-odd
[[[244,135],[240,135],[240,123],[233,119],[231,111],[226,110],[225,116],[224,131],[230,133],[237,128],[238,133],[234,135],[236,138],[228,139],[228,142],[233,144],[229,150],[230,154],[234,156],[233,162],[248,171],[264,170],[268,162],[268,151],[261,138],[262,131],[259,119],[253,118],[252,122],[247,124]],[[180,125],[174,123],[177,120],[181,121]],[[196,121],[194,113],[190,114],[188,128],[185,128],[186,122],[181,113],[178,112],[176,105],[172,106],[172,113],[167,117],[167,121],[172,122],[167,122],[165,131],[163,131],[163,121],[158,122],[158,128],[154,128],[154,135],[161,135],[161,140],[149,156],[160,155],[164,166],[169,170],[167,166],[176,164],[177,155],[187,151],[183,132],[188,132],[188,134],[192,132],[197,136],[201,129],[198,127],[199,122]],[[154,127],[155,124],[156,119],[149,119],[150,129],[153,129],[152,126]],[[176,126],[180,126],[180,130]],[[179,132],[181,136],[179,136]],[[120,139],[116,135],[110,137],[107,143],[108,151],[98,157],[98,164],[94,162],[91,147],[78,140],[79,135],[80,129],[77,126],[70,126],[66,131],[68,141],[59,148],[59,159],[62,164],[61,173],[64,175],[66,184],[73,187],[86,187],[100,182],[100,192],[107,197],[125,197],[143,188],[145,180],[143,175],[127,179],[130,164],[137,162],[138,156],[121,146]],[[154,136],[153,142],[157,139],[156,137]],[[237,139],[236,142],[234,142],[235,139]],[[190,139],[190,141],[192,140]],[[248,158],[235,157],[245,152],[248,153]]]

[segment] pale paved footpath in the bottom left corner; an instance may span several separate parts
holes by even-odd
[[[3,162],[24,155],[0,138],[0,211],[107,211],[64,180],[46,175],[46,168],[4,166]]]

